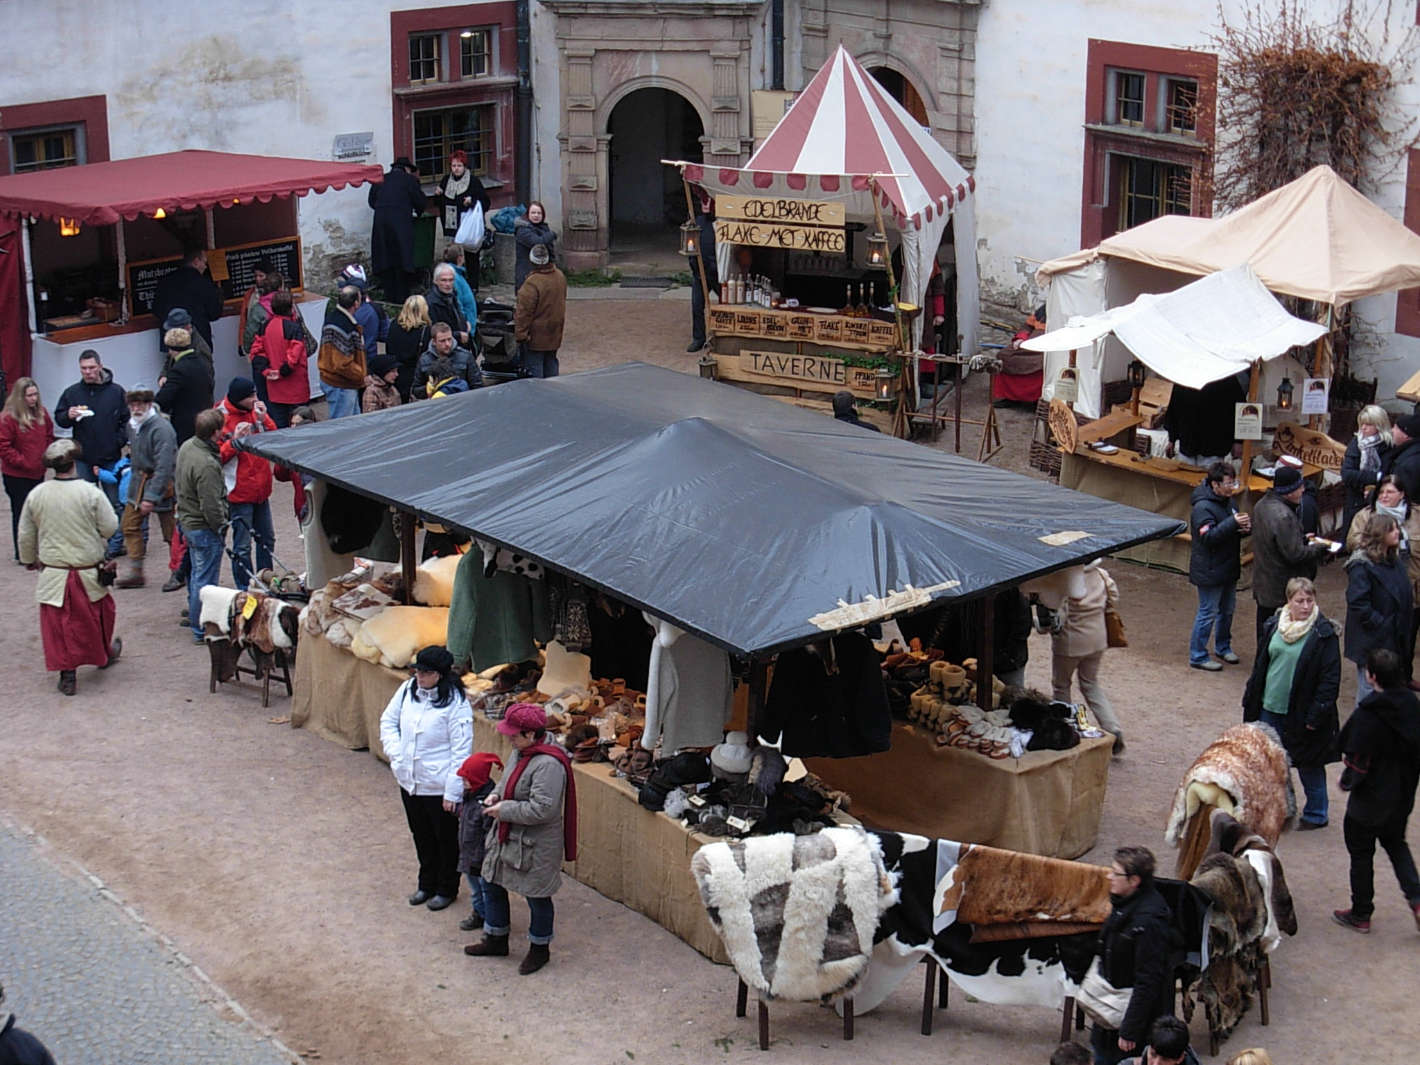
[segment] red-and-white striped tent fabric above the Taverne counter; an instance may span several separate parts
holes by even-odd
[[[876,187],[883,220],[896,224],[903,244],[903,297],[917,305],[953,219],[957,331],[963,354],[976,352],[976,182],[842,45],[744,168],[680,166],[686,179],[711,193],[841,202],[855,222],[873,222]],[[720,250],[721,275],[728,254]]]

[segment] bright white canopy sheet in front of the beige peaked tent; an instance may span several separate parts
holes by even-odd
[[[1319,322],[1288,314],[1242,264],[1220,270],[1173,293],[1145,294],[1130,304],[1091,317],[1075,315],[1021,346],[1028,351],[1085,351],[1096,359],[1096,341],[1113,334],[1160,378],[1201,389],[1213,381],[1314,344],[1326,332]],[[1076,362],[1078,369],[1098,362]]]

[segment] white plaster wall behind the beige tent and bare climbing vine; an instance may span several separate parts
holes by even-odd
[[[1223,0],[1237,18],[1240,0]],[[1323,14],[1335,3],[1312,0]],[[1217,30],[1216,0],[990,0],[977,37],[977,227],[983,295],[1034,307],[1035,266],[1079,247],[1085,153],[1085,74],[1092,37],[1163,48],[1207,48]],[[1413,6],[1396,4],[1389,26],[1367,27],[1383,54],[1414,27]],[[1387,38],[1389,44],[1382,38]],[[1406,77],[1402,75],[1402,81]],[[1399,109],[1420,114],[1420,85],[1406,84]],[[1225,131],[1218,131],[1225,136]],[[1404,163],[1377,173],[1365,190],[1393,217],[1404,206]],[[1022,261],[1028,260],[1028,261]],[[1362,345],[1355,371],[1394,395],[1420,369],[1420,339],[1397,337],[1394,295],[1362,300]]]

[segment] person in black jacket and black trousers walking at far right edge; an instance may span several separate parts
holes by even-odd
[[[1370,652],[1366,679],[1375,690],[1360,700],[1336,743],[1346,764],[1340,790],[1350,792],[1342,822],[1350,855],[1350,909],[1332,917],[1355,932],[1370,932],[1379,842],[1420,927],[1420,873],[1406,843],[1420,785],[1420,700],[1406,686],[1406,670],[1393,652]]]

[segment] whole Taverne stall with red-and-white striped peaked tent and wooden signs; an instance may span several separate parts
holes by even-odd
[[[933,348],[934,273],[956,293],[949,352],[976,354],[976,183],[845,48],[743,169],[672,165],[714,196],[706,324],[720,379],[809,408],[846,389],[900,430],[916,412],[907,355]]]

